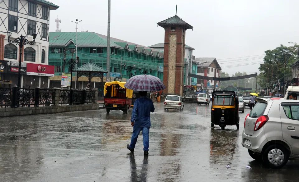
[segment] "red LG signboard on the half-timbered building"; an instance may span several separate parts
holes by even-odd
[[[27,75],[54,77],[55,66],[27,63]]]

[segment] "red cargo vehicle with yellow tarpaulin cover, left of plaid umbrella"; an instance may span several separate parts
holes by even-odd
[[[132,105],[133,90],[125,88],[126,82],[106,82],[104,86],[104,107],[110,111],[123,111],[128,114]]]

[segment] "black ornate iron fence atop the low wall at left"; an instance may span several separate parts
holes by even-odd
[[[86,104],[97,102],[96,90],[73,89],[20,89],[0,88],[0,107],[39,107],[51,104]]]

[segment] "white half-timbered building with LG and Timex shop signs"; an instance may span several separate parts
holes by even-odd
[[[23,35],[28,41],[33,41],[32,34],[36,33],[35,44],[22,48],[21,87],[49,87],[49,78],[54,75],[54,67],[48,66],[49,18],[50,10],[58,7],[45,0],[0,2],[0,60],[4,60],[3,65],[6,66],[1,80],[11,80],[12,84],[17,84],[18,79],[20,47],[8,43],[7,32],[12,33],[10,40]]]

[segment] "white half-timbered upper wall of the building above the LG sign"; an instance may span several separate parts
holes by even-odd
[[[36,50],[36,61],[24,61],[29,63],[36,63],[36,64],[48,64],[48,52],[49,52],[49,18],[50,18],[50,7],[48,7],[48,20],[42,19],[42,5],[37,4],[36,1],[33,1],[37,4],[36,7],[36,17],[28,15],[28,1],[27,0],[18,0],[18,12],[10,11],[8,9],[8,1],[9,0],[0,0],[0,31],[1,34],[6,35],[4,45],[8,44],[8,37],[7,37],[7,31],[8,31],[8,15],[13,15],[18,17],[18,26],[17,26],[17,33],[12,32],[12,36],[10,37],[11,40],[16,39],[18,36],[26,37],[28,41],[33,41],[33,38],[31,35],[27,35],[27,24],[28,20],[34,20],[36,21],[36,39],[34,45],[26,45],[26,47],[32,47]],[[47,38],[42,38],[42,23],[47,24]],[[16,45],[18,48],[18,45]],[[45,50],[45,63],[41,63],[41,51],[42,49]],[[24,53],[24,52],[23,52]],[[14,59],[5,59],[8,61],[18,61],[19,60],[19,50],[17,54],[17,60]]]

